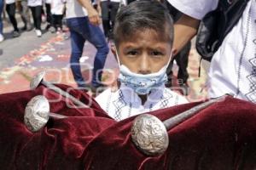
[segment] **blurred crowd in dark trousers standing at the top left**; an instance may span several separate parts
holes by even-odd
[[[61,32],[62,19],[65,14],[65,0],[0,0],[0,42],[3,42],[3,19],[9,18],[13,26],[13,37],[20,37],[21,31],[34,31],[38,37],[42,36],[42,20],[47,21],[46,31]],[[18,27],[17,14],[23,22]]]

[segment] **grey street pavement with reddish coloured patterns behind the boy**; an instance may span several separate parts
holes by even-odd
[[[22,24],[19,22],[19,26]],[[42,26],[44,28],[44,25]],[[39,71],[46,71],[45,80],[64,83],[76,88],[70,71],[70,39],[69,32],[52,34],[45,31],[42,37],[36,37],[34,31],[24,31],[20,37],[12,38],[11,26],[5,23],[4,32],[7,39],[0,43],[0,94],[29,90],[31,78]],[[3,53],[1,53],[1,51]],[[85,80],[90,82],[90,72],[93,68],[96,48],[90,42],[85,42],[84,54],[80,59],[81,70]],[[207,64],[201,67],[201,77],[198,77],[200,57],[195,48],[189,54],[189,101],[205,99],[207,92]],[[174,76],[177,75],[177,65],[174,65]],[[108,86],[116,85],[119,69],[113,54],[109,52],[103,71],[102,81]],[[179,92],[174,83],[174,89]]]

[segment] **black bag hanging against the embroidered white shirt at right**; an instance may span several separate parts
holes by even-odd
[[[219,0],[218,8],[201,20],[195,47],[202,59],[211,61],[224,37],[236,26],[248,2],[249,0]]]

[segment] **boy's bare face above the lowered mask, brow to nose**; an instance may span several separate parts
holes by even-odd
[[[172,53],[171,42],[163,39],[165,38],[160,38],[154,30],[135,32],[131,38],[119,42],[120,64],[138,74],[160,71],[167,65]]]

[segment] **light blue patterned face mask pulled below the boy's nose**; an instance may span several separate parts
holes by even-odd
[[[119,56],[117,56],[119,62]],[[152,89],[160,88],[167,82],[166,69],[172,59],[172,55],[163,68],[158,72],[151,74],[137,74],[130,71],[125,65],[119,64],[119,82],[125,84],[125,86],[132,88],[137,94],[145,95],[149,94]]]

